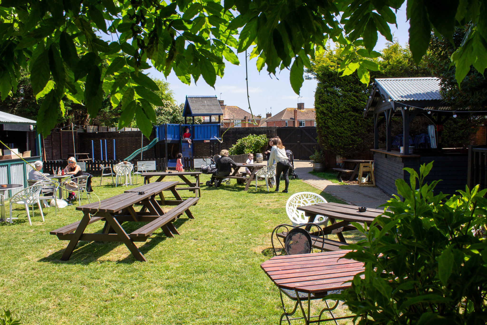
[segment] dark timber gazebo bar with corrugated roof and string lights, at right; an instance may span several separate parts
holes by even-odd
[[[448,118],[470,115],[467,110],[452,111],[440,95],[440,80],[435,77],[377,78],[364,110],[364,118],[374,118],[374,175],[375,184],[387,194],[397,194],[395,180],[403,178],[409,183],[409,167],[419,174],[419,166],[434,161],[427,182],[442,180],[435,193],[452,194],[465,189],[467,184],[468,152],[463,149],[442,149],[441,131]],[[429,129],[431,146],[414,148],[409,153],[410,122],[416,116],[425,116],[431,121]],[[391,122],[393,117],[402,118],[402,141],[400,153],[393,147]],[[385,123],[385,148],[379,148],[379,127]],[[440,131],[440,132],[438,132]],[[397,134],[395,134],[397,135]],[[427,135],[427,136],[430,136]],[[438,144],[438,145],[435,145]],[[432,148],[431,148],[432,147]]]

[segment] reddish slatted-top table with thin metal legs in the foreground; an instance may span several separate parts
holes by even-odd
[[[317,316],[311,316],[309,304],[311,300],[323,299],[330,291],[342,290],[351,287],[351,283],[345,283],[354,278],[354,276],[364,271],[362,262],[351,259],[341,258],[349,250],[340,250],[333,252],[321,252],[300,255],[281,255],[275,256],[261,264],[261,268],[279,288],[281,295],[281,304],[284,313],[281,315],[281,321],[284,316],[287,321],[304,319],[306,324],[326,322],[330,320],[339,320],[352,318],[354,316],[335,317],[332,308],[323,308],[321,313],[329,311],[331,319],[320,320],[321,313]],[[363,275],[361,276],[363,278]],[[287,312],[282,299],[285,294],[291,300],[296,301],[294,310]],[[305,313],[302,303],[308,302],[308,314]],[[302,317],[290,318],[296,312],[298,304],[302,312]],[[328,304],[327,304],[328,307]],[[332,310],[330,310],[332,309]],[[312,318],[318,318],[313,319]],[[281,322],[279,323],[281,324]],[[289,323],[290,324],[290,323]]]

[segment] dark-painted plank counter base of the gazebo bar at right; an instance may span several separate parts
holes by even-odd
[[[395,180],[404,179],[409,184],[409,167],[419,174],[419,166],[433,162],[433,168],[425,181],[442,180],[434,193],[453,194],[465,190],[467,184],[468,152],[462,149],[415,149],[412,154],[402,154],[397,150],[371,149],[374,153],[375,185],[386,194],[397,194]]]

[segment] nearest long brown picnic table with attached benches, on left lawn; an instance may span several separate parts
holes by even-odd
[[[179,234],[179,232],[172,225],[172,221],[183,213],[186,213],[189,218],[194,219],[189,208],[198,203],[199,198],[193,197],[183,201],[175,189],[177,184],[178,182],[147,184],[99,202],[77,207],[76,210],[81,210],[84,214],[80,221],[50,232],[52,235],[56,235],[60,240],[70,241],[61,260],[67,261],[73,253],[78,241],[84,240],[123,242],[136,260],[147,261],[142,252],[133,242],[147,241],[152,233],[159,228],[164,231],[166,236],[174,237],[174,235]],[[178,203],[176,207],[168,212],[164,212],[159,203],[155,200],[155,196],[167,189],[169,189],[176,199],[179,200],[177,201]],[[142,205],[142,209],[140,211],[135,211],[133,207],[134,205]],[[89,224],[99,220],[105,221],[105,226],[101,233],[84,232]],[[149,223],[131,233],[127,233],[121,226],[125,221]]]

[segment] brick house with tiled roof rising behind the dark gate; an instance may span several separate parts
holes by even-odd
[[[267,115],[265,126],[316,126],[315,109],[304,108],[304,103],[298,103],[298,108],[288,107],[274,116]]]

